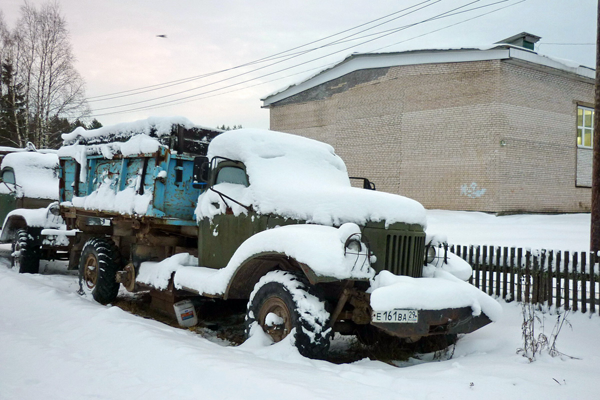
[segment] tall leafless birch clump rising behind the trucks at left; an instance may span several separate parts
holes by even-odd
[[[11,66],[14,88],[23,95],[26,113],[14,139],[19,146],[31,141],[38,148],[60,143],[56,121],[89,115],[85,85],[74,68],[75,58],[67,23],[56,2],[39,8],[25,2],[16,28],[2,46]],[[13,115],[16,121],[17,116]]]

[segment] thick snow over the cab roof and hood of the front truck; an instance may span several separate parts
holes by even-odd
[[[214,157],[245,164],[250,187],[220,184],[215,189],[247,201],[244,204],[260,214],[321,225],[364,225],[367,221],[426,225],[425,209],[418,201],[350,186],[344,161],[331,146],[316,140],[267,130],[233,130],[212,140],[208,158]],[[224,212],[224,207],[211,206],[215,202],[220,197],[213,191],[200,195],[197,218]],[[236,214],[245,212],[235,204],[227,205]]]

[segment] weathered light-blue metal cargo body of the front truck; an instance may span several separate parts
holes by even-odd
[[[169,225],[196,224],[194,210],[200,190],[191,184],[194,157],[172,153],[161,147],[152,154],[127,157],[117,154],[110,160],[103,155],[88,155],[86,161],[86,166],[81,166],[74,158],[60,158],[61,202],[89,196],[107,178],[112,181],[110,188],[115,194],[139,181],[135,185],[136,194],[152,193],[152,200],[147,211],[137,216],[160,218],[162,224]],[[83,176],[85,182],[77,179]],[[91,210],[97,210],[98,216],[118,214],[102,209]]]

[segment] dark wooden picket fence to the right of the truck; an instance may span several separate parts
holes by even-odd
[[[600,312],[600,257],[499,246],[449,245],[473,267],[470,282],[503,299]]]

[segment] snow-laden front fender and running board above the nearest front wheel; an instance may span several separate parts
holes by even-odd
[[[369,249],[359,238],[356,224],[340,228],[286,225],[249,237],[221,269],[182,265],[173,269],[172,263],[161,269],[164,276],[175,272],[175,288],[225,299],[248,299],[260,277],[276,269],[302,271],[313,284],[373,278]],[[350,248],[356,251],[349,251]],[[148,283],[139,276],[138,281]]]

